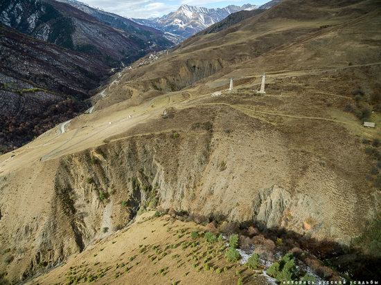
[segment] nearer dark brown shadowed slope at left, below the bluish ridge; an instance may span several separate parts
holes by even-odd
[[[0,26],[1,151],[21,147],[85,110],[109,66]]]

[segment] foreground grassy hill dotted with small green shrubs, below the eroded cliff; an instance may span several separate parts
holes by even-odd
[[[103,230],[107,232],[107,228]],[[279,274],[275,266],[269,266],[269,260],[276,258],[258,252],[272,248],[281,253],[281,239],[277,243],[260,235],[254,239],[261,245],[257,244],[254,252],[247,250],[251,252],[248,255],[238,246],[249,246],[249,237],[240,240],[238,235],[219,234],[213,224],[200,226],[176,220],[174,215],[148,212],[127,229],[27,284],[134,284],[132,280],[142,278],[148,284],[274,284],[276,278],[281,281],[291,277],[319,280],[317,275],[307,273],[309,267],[296,258],[308,252],[282,257],[280,264],[287,264],[287,269]],[[301,266],[299,270],[296,264]],[[323,265],[320,269],[330,271]]]

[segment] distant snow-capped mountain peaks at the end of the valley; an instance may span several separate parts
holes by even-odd
[[[188,37],[199,33],[201,30],[222,21],[229,15],[242,10],[268,9],[281,0],[273,0],[263,6],[245,4],[242,6],[229,5],[225,8],[204,8],[181,5],[175,12],[170,12],[163,17],[150,19],[132,19],[136,23],[157,28],[165,33],[167,39],[179,44]]]

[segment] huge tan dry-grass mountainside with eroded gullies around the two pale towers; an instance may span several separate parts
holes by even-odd
[[[140,239],[139,227],[148,229],[134,218],[153,208],[283,229],[301,239],[295,247],[323,244],[316,255],[324,258],[333,251],[322,241],[359,247],[380,212],[380,21],[378,1],[285,0],[115,75],[94,112],[64,134],[56,127],[0,157],[1,272],[17,282],[62,261],[78,271],[82,259],[93,272],[94,254],[113,266],[117,246],[109,257],[89,247]],[[266,95],[255,95],[264,72]],[[134,230],[114,236],[129,224]],[[154,238],[169,239],[159,228]],[[357,250],[374,255],[374,244]],[[130,257],[134,246],[126,248]],[[345,250],[335,252],[345,264]],[[168,283],[153,275],[161,268],[143,264],[117,280],[145,274]],[[64,282],[67,271],[39,281]],[[106,282],[118,284],[112,275]]]

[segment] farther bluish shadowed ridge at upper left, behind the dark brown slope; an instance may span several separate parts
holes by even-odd
[[[91,14],[54,0],[6,0],[1,3],[0,15],[1,23],[6,26],[87,53],[112,66],[172,45],[150,28],[125,24],[123,30],[118,30],[105,24],[105,20],[99,21]],[[123,24],[127,22],[126,19]]]

